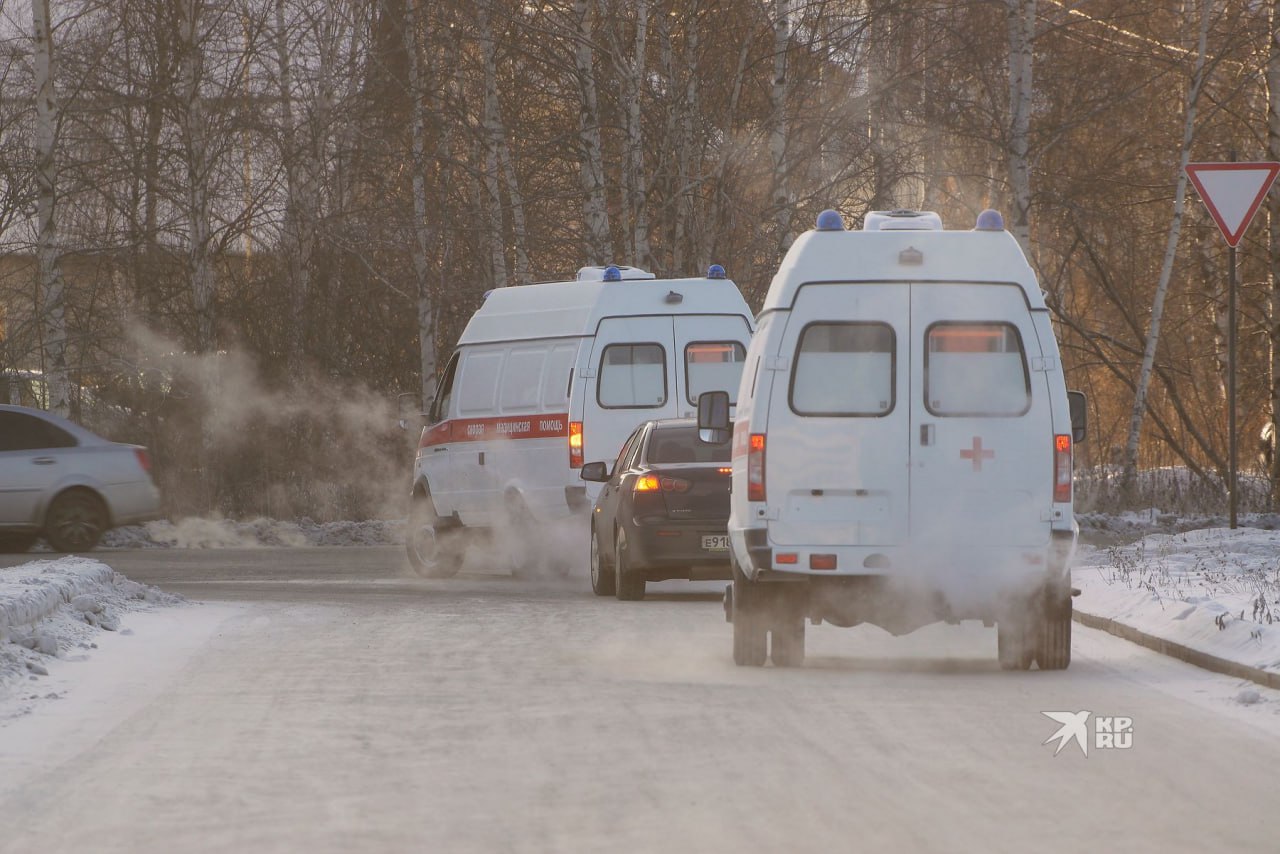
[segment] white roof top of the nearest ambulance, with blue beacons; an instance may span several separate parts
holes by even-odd
[[[884,219],[877,216],[876,228],[849,232],[838,227],[838,215],[832,219],[828,214],[833,211],[819,218],[826,228],[805,232],[791,245],[769,284],[762,314],[790,309],[800,286],[818,282],[1005,282],[1021,286],[1032,309],[1044,309],[1036,273],[1002,225],[951,232],[883,228]],[[922,219],[925,216],[941,222],[937,214]],[[998,215],[995,222],[1000,222]]]

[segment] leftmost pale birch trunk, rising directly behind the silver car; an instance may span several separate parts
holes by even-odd
[[[54,33],[49,0],[32,0],[32,64],[36,85],[36,259],[44,321],[44,374],[49,388],[45,405],[70,415],[67,378],[67,316],[61,257],[58,243],[56,136],[58,97],[54,92]]]

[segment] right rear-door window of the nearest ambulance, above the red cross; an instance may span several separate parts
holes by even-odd
[[[1018,329],[1007,323],[940,323],[925,333],[924,403],[940,416],[1016,416],[1030,408]]]

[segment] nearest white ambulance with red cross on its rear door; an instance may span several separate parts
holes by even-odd
[[[1000,214],[948,232],[876,211],[849,232],[824,211],[758,324],[732,426],[733,659],[801,663],[806,617],[982,620],[1005,668],[1065,668],[1084,397]],[[705,439],[727,421],[723,396],[699,402]]]

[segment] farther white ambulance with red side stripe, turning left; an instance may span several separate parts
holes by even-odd
[[[490,291],[467,323],[426,414],[413,470],[410,562],[461,566],[461,534],[589,512],[612,460],[650,419],[692,416],[735,392],[754,319],[724,269],[657,279],[582,268],[573,282]]]

